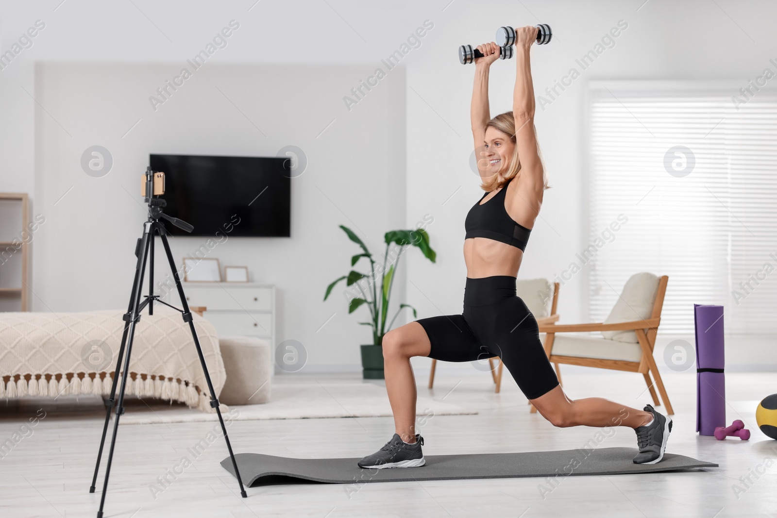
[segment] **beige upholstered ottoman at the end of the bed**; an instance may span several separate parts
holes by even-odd
[[[218,339],[227,381],[218,400],[225,405],[257,405],[270,401],[273,355],[270,344],[253,336]]]

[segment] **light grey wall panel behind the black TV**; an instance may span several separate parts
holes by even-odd
[[[207,257],[248,265],[250,280],[277,286],[279,341],[301,342],[319,368],[354,363],[354,342],[369,335],[346,316],[344,284],[333,300],[322,298],[359,251],[338,224],[379,252],[382,233],[404,221],[403,71],[387,76],[370,103],[340,116],[338,94],[371,68],[206,64],[153,110],[149,85],[162,85],[181,66],[38,65],[35,210],[46,223],[35,242],[33,308],[126,307],[146,215],[139,179],[149,153],[274,156],[294,144],[308,166],[292,179],[291,238],[210,236],[208,246],[208,237],[174,237],[173,256],[180,265],[183,256],[214,246]],[[101,178],[86,175],[79,162],[93,144],[113,155],[113,169]],[[247,199],[253,194],[259,193]],[[169,273],[161,247],[156,266],[159,281]]]

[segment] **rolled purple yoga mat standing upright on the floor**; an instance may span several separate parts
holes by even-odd
[[[726,426],[726,357],[723,306],[693,304],[696,334],[696,431],[714,435]]]

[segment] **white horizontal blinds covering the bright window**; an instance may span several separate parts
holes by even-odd
[[[723,304],[726,332],[777,331],[777,97],[590,93],[593,321],[647,271],[669,276],[661,332],[693,332],[693,304]]]

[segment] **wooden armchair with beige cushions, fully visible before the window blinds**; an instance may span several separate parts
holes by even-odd
[[[549,360],[556,364],[556,369],[559,363],[566,363],[639,372],[645,378],[653,403],[660,405],[653,388],[655,384],[667,407],[667,413],[674,414],[656,360],[653,359],[668,280],[668,276],[657,277],[652,273],[631,276],[605,322],[540,324],[539,331],[545,332],[545,353]],[[601,332],[602,337],[563,334],[591,331]],[[650,373],[653,373],[655,382],[650,381]],[[536,412],[533,405],[531,412]]]

